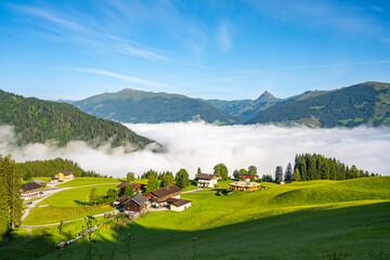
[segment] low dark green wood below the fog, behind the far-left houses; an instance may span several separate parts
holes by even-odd
[[[75,177],[107,177],[94,171],[84,171],[81,167],[69,159],[55,158],[49,160],[27,160],[17,164],[23,179],[29,180],[34,177],[51,177],[58,171],[72,171]]]

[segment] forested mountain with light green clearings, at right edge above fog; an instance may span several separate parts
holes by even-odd
[[[365,82],[259,113],[249,123],[301,122],[312,127],[390,123],[390,84]]]

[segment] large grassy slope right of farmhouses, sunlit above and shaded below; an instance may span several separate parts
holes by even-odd
[[[133,259],[389,259],[390,177],[269,185],[265,191],[185,194],[183,212],[148,212],[119,234],[117,258]],[[100,248],[112,251],[114,231],[101,230]],[[152,250],[153,249],[153,250]],[[64,259],[86,253],[82,243]],[[47,255],[43,259],[51,259]]]

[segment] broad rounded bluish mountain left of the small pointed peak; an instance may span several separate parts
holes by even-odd
[[[200,118],[221,125],[236,123],[235,117],[196,99],[179,94],[123,89],[73,102],[81,110],[121,122],[190,121]]]

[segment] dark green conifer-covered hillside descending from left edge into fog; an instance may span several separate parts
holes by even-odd
[[[18,145],[53,140],[64,146],[78,140],[96,147],[109,141],[113,147],[130,144],[127,146],[135,150],[153,142],[118,122],[99,119],[69,104],[23,98],[2,90],[0,125],[14,127]]]

